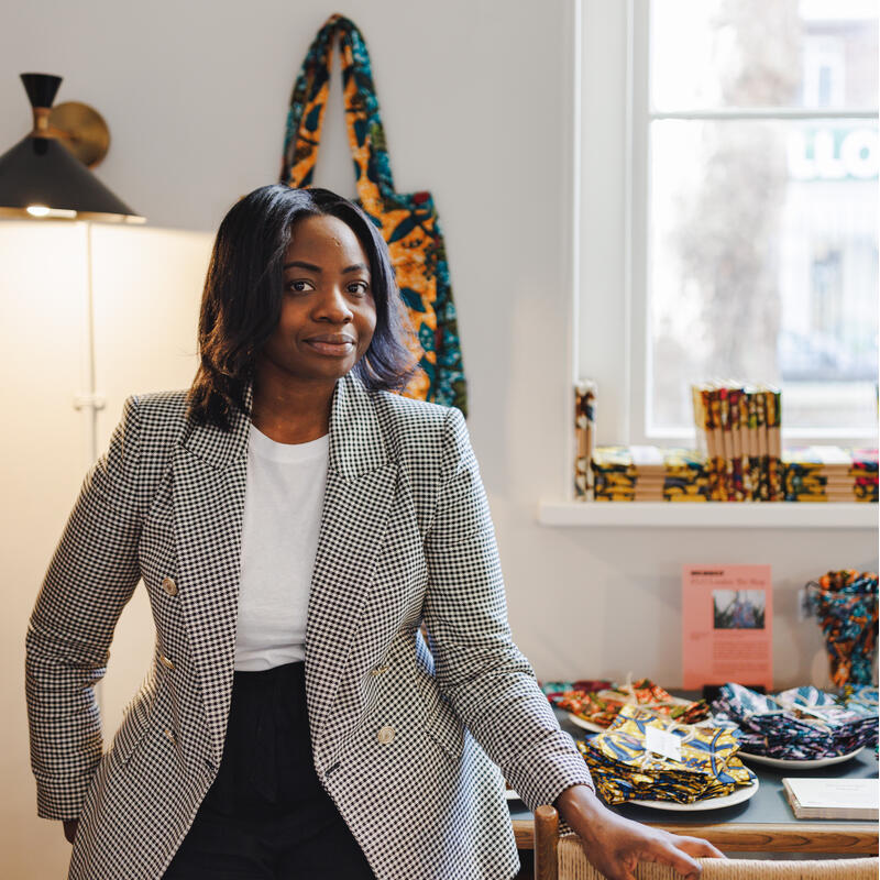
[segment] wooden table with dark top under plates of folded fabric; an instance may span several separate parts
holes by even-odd
[[[586,732],[556,710],[560,725],[576,738]],[[878,824],[831,820],[798,820],[782,791],[783,777],[876,779],[877,759],[873,748],[845,763],[818,770],[776,770],[751,763],[760,788],[754,798],[721,810],[681,813],[623,804],[612,807],[627,818],[656,825],[673,834],[703,837],[723,851],[748,853],[825,853],[871,855],[878,851]],[[510,818],[519,849],[535,848],[532,814],[521,801],[509,801]]]

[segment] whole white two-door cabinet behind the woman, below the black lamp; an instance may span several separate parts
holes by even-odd
[[[84,223],[0,222],[0,615],[3,725],[2,873],[66,876],[70,847],[59,823],[36,817],[24,701],[28,618],[80,484],[94,461],[89,391],[88,263]],[[101,454],[130,394],[188,387],[213,235],[92,227],[92,292]],[[105,739],[152,659],[154,629],[139,585],[120,619],[100,688]]]

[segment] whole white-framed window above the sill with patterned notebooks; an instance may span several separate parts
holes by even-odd
[[[627,433],[603,431],[600,382],[600,441],[690,444],[690,384],[735,377],[781,386],[790,443],[876,443],[878,2],[629,9],[631,276],[617,310],[629,377],[610,389],[625,395]],[[584,143],[584,178],[588,155]],[[598,296],[588,272],[587,257],[584,312]],[[582,330],[583,375],[596,372],[594,341]]]

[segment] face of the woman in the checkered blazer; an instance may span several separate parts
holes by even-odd
[[[358,237],[336,217],[299,220],[284,258],[280,318],[261,366],[334,383],[363,356],[375,329],[370,260]]]

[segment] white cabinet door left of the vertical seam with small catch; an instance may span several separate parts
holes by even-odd
[[[24,701],[24,636],[87,466],[85,229],[0,222],[0,676],[3,877],[65,877],[61,823],[36,817]]]

